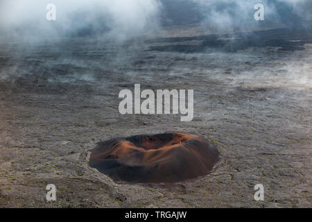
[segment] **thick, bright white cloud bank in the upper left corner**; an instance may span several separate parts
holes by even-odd
[[[57,7],[57,20],[46,21],[46,5]],[[157,0],[1,0],[0,33],[12,37],[62,37],[110,33],[125,37],[157,28]]]

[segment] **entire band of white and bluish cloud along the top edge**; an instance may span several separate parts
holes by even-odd
[[[46,5],[57,21],[46,21]],[[208,33],[258,26],[254,5],[263,3],[266,22],[298,24],[312,19],[311,0],[1,0],[0,37],[51,39],[108,33],[115,39],[144,35],[159,24],[200,23]]]

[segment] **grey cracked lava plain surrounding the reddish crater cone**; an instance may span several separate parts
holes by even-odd
[[[168,30],[0,45],[0,207],[312,207],[311,28]],[[194,89],[193,121],[119,114],[119,92],[135,83]],[[174,184],[116,182],[89,166],[97,142],[166,131],[202,135],[221,160]]]

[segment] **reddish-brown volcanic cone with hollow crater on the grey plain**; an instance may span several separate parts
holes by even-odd
[[[137,135],[100,142],[90,166],[127,182],[178,182],[205,176],[218,161],[218,150],[196,134]]]

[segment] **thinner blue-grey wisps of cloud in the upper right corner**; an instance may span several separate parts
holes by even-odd
[[[200,22],[207,33],[248,31],[272,23],[293,26],[312,19],[310,0],[164,0],[163,3],[170,9],[167,14],[173,15],[175,22],[187,23],[177,16],[177,11],[187,10],[184,18],[189,18],[189,22]],[[265,7],[264,22],[253,19],[257,3]]]

